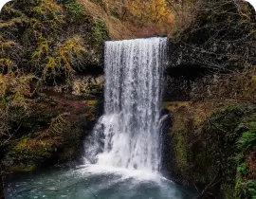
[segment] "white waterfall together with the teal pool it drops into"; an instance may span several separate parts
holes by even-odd
[[[84,164],[9,183],[7,199],[187,199],[161,167],[160,104],[166,38],[105,44],[104,115],[84,143]]]

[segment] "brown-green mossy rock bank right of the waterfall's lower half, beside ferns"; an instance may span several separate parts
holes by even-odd
[[[236,140],[239,126],[255,110],[253,104],[209,101],[170,102],[170,170],[179,182],[209,186],[224,195],[234,192]],[[206,112],[209,110],[208,112]],[[225,196],[226,197],[226,196]],[[226,197],[226,198],[232,198]]]

